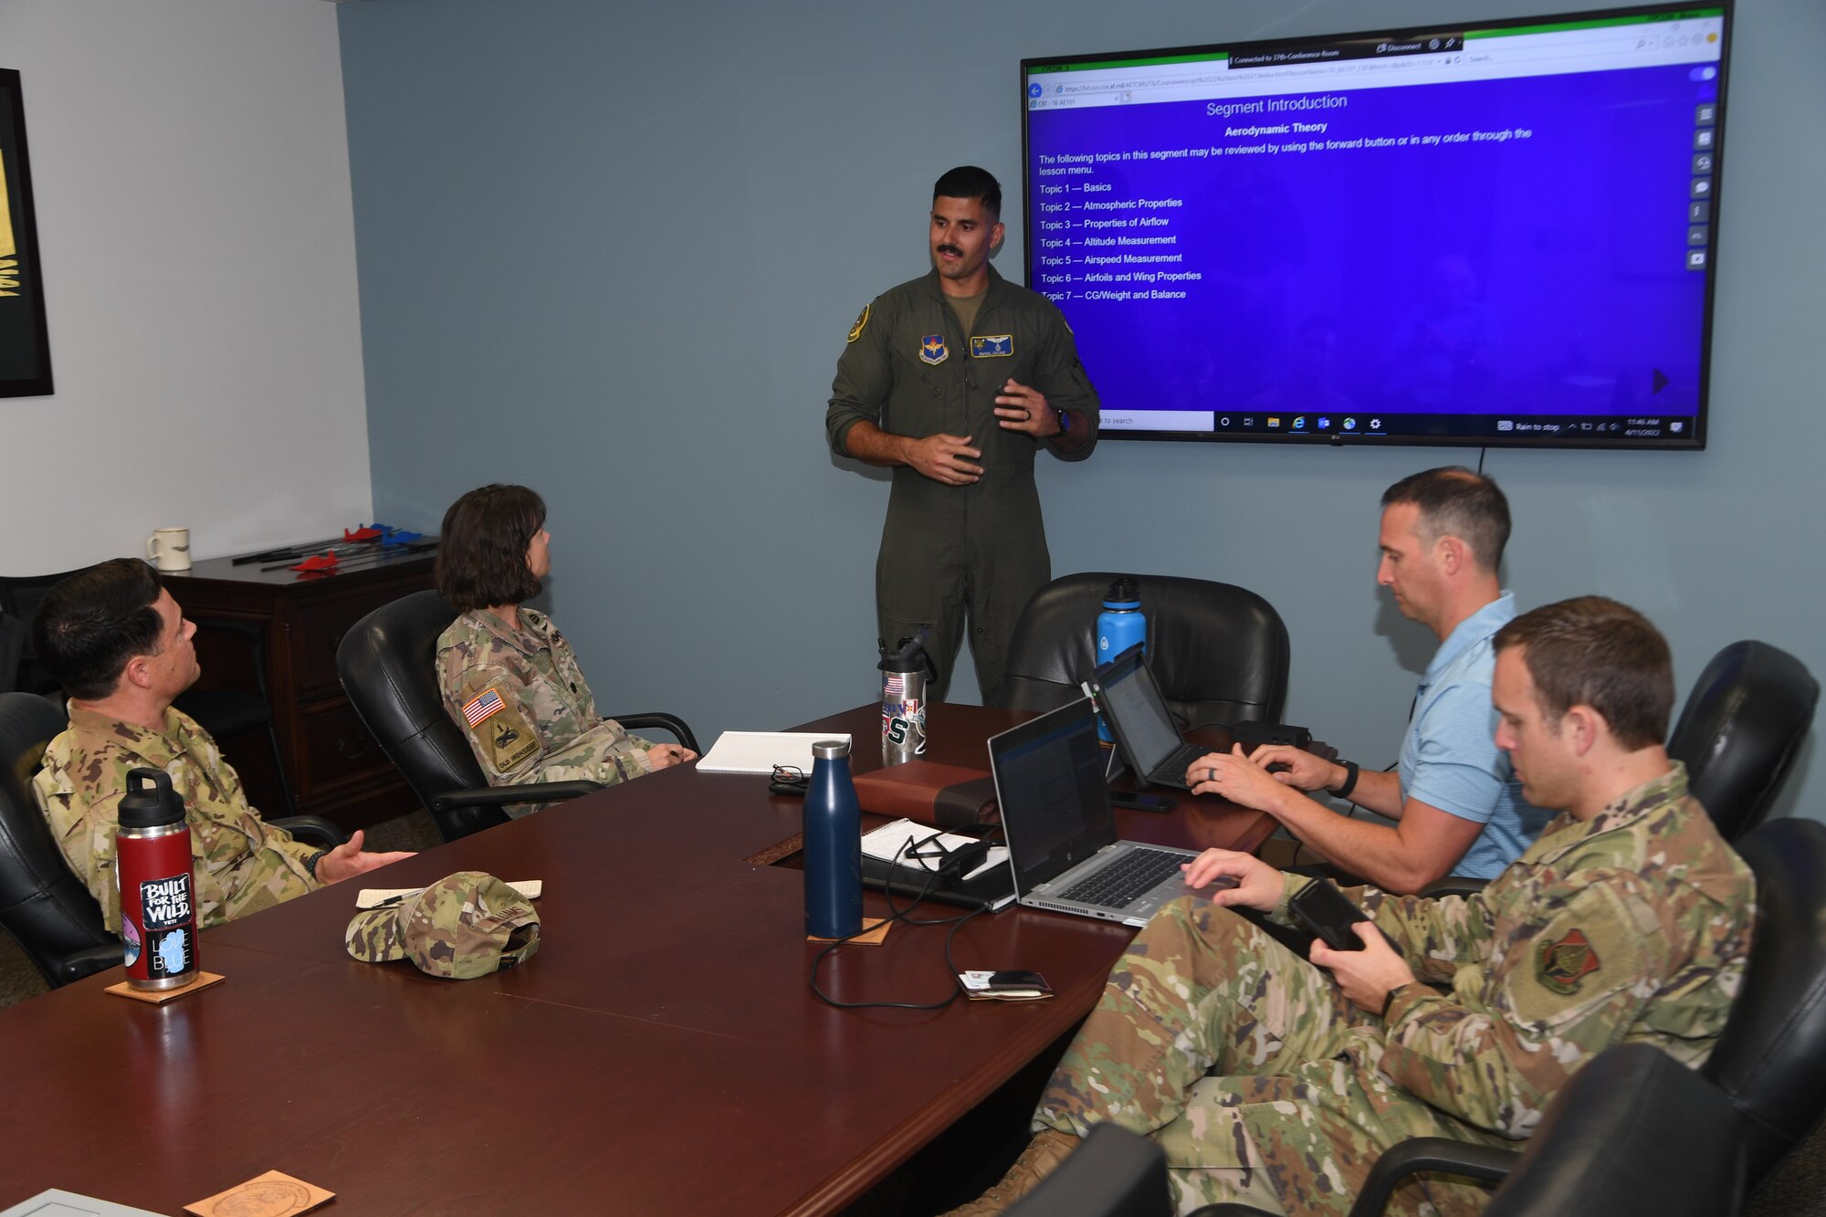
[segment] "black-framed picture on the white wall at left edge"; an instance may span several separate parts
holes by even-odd
[[[31,205],[18,73],[0,68],[0,397],[51,393],[38,214]]]

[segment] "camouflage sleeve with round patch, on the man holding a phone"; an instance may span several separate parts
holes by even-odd
[[[1452,996],[1395,992],[1379,1067],[1468,1124],[1530,1135],[1565,1080],[1620,1042],[1653,996],[1643,979],[1663,972],[1662,925],[1627,872],[1587,870],[1579,886],[1543,892],[1488,963],[1459,970]]]

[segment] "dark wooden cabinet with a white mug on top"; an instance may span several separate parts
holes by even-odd
[[[389,556],[334,574],[259,566],[212,557],[190,574],[163,576],[197,623],[197,687],[256,689],[265,676],[292,811],[329,817],[349,831],[411,811],[418,800],[405,778],[343,696],[336,645],[371,610],[431,587],[433,556]],[[257,651],[223,621],[259,627]],[[248,800],[265,815],[283,815],[272,746],[259,733],[217,742],[247,782]]]

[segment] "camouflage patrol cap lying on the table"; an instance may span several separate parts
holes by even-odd
[[[524,941],[509,948],[520,928]],[[433,976],[473,979],[531,959],[539,914],[495,875],[460,870],[398,905],[358,912],[345,941],[365,963],[411,959]]]

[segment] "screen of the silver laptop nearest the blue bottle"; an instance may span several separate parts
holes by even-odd
[[[1090,698],[992,736],[990,771],[1021,895],[1116,841]]]

